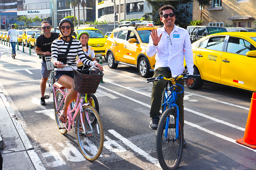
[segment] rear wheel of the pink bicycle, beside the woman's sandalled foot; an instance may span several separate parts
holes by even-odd
[[[60,106],[61,104],[61,100],[63,99],[63,94],[61,93],[61,91],[57,91],[56,92],[56,100],[57,100],[57,107]],[[65,99],[64,99],[65,101]],[[62,108],[64,107],[64,101],[62,102],[61,104],[61,107],[59,109],[59,112],[62,110]],[[57,107],[55,105],[55,98],[53,98],[53,103],[54,103],[54,111],[55,111],[55,120],[56,120],[56,123],[57,123],[57,126],[58,126],[58,129],[60,131],[61,134],[66,134],[68,132],[68,130],[66,129],[66,126],[68,126],[68,122],[67,123],[62,123],[60,122],[60,115],[58,114],[58,111],[57,111]]]

